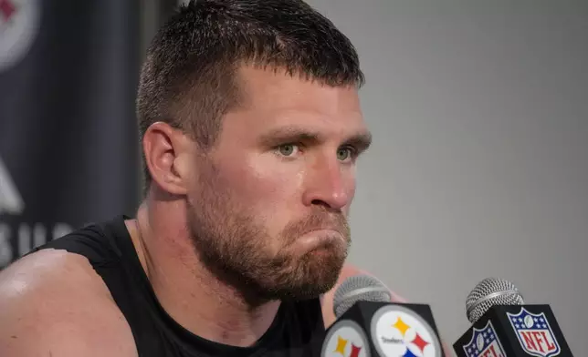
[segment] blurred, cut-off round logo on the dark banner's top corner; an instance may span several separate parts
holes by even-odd
[[[0,0],[0,72],[26,56],[37,37],[40,13],[38,0]]]

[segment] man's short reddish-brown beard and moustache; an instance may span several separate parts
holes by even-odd
[[[290,221],[278,236],[271,236],[265,224],[271,218],[252,213],[253,205],[238,204],[215,166],[206,167],[197,198],[188,199],[187,221],[196,254],[217,279],[234,286],[251,304],[316,298],[334,287],[351,244],[341,212],[316,205],[307,217]],[[325,227],[338,231],[343,240],[329,237],[303,254],[289,250],[304,233]],[[279,249],[268,250],[276,242]]]

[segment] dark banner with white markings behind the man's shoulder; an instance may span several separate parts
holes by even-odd
[[[0,269],[132,213],[139,0],[0,0]]]

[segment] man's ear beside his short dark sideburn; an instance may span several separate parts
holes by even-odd
[[[185,195],[190,179],[189,138],[167,123],[156,122],[147,128],[142,148],[153,183],[170,194]]]

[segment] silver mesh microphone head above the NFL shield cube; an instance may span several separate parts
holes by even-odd
[[[467,320],[478,321],[494,305],[522,305],[524,301],[517,287],[509,280],[486,278],[467,295]]]

